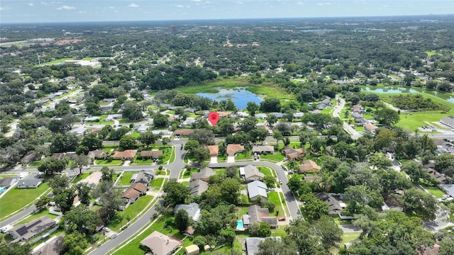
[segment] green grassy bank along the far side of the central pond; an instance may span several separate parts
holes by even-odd
[[[275,86],[274,84],[250,84],[248,79],[245,78],[232,78],[232,79],[219,79],[216,81],[209,81],[206,84],[199,86],[187,86],[177,88],[185,94],[197,93],[218,93],[217,88],[232,89],[236,87],[245,87],[246,90],[263,96],[270,96],[279,99],[293,99],[294,96],[287,94],[284,89]]]

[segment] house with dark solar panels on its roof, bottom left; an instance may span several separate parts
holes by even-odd
[[[45,232],[46,230],[56,227],[57,222],[52,220],[49,216],[41,216],[36,220],[32,220],[25,224],[18,225],[9,229],[7,232],[10,237],[13,239],[21,239],[23,242],[27,242],[34,237],[37,237],[39,234]]]

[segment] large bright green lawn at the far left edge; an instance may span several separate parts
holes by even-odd
[[[42,183],[38,188],[13,188],[0,198],[0,219],[23,208],[45,193],[48,183]]]

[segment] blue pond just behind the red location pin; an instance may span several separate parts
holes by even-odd
[[[197,95],[210,98],[218,102],[231,99],[238,109],[245,109],[246,106],[248,106],[249,101],[253,101],[258,105],[260,105],[260,102],[262,101],[262,98],[260,98],[260,96],[257,96],[252,92],[245,90],[244,88],[218,90],[218,93],[197,93]]]

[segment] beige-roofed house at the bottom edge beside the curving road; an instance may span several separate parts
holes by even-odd
[[[154,231],[145,237],[140,244],[146,247],[151,255],[170,255],[176,251],[183,242],[175,237],[167,236]]]

